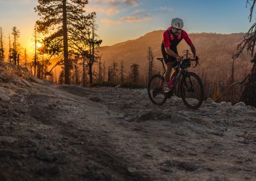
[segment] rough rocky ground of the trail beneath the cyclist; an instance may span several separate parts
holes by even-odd
[[[256,110],[146,89],[0,83],[0,180],[256,180]]]

